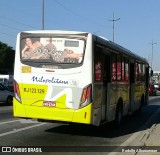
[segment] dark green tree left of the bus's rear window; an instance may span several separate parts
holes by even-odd
[[[15,50],[0,42],[0,74],[13,74]]]

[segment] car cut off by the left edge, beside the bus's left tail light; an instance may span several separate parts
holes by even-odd
[[[0,102],[12,104],[14,93],[0,83]]]

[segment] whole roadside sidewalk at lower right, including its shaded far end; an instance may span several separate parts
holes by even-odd
[[[154,123],[152,123],[154,120]],[[156,121],[155,121],[156,120]],[[122,152],[113,155],[160,155],[160,109],[134,134],[134,138],[121,145]],[[112,155],[111,154],[111,155]]]

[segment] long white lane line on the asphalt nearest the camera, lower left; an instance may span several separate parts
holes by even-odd
[[[38,127],[38,126],[42,126],[42,125],[44,125],[44,124],[46,124],[46,123],[40,123],[40,124],[36,124],[36,125],[32,125],[32,126],[25,127],[25,128],[21,128],[21,129],[14,129],[13,131],[1,133],[1,134],[0,134],[0,137],[6,136],[6,135],[9,135],[9,134],[12,134],[12,133],[16,133],[16,132],[28,130],[28,129],[31,129],[31,128],[35,128],[35,127]]]

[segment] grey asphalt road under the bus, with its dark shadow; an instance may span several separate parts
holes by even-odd
[[[46,146],[51,151],[60,146],[60,152],[65,152],[68,146],[71,151],[75,146],[78,151],[81,151],[81,146],[89,146],[85,148],[89,152],[105,152],[101,146],[115,148],[126,145],[129,139],[134,139],[137,132],[150,128],[157,121],[153,116],[160,108],[159,100],[160,96],[150,97],[150,105],[145,106],[141,113],[124,117],[119,127],[113,123],[101,127],[39,123],[36,120],[14,118],[12,106],[0,105],[0,146]]]

